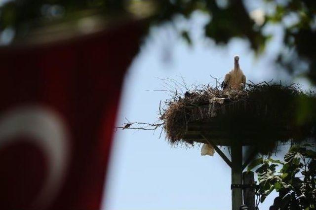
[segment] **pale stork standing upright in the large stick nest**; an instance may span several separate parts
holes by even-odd
[[[239,56],[234,57],[234,69],[225,75],[221,85],[223,90],[242,90],[246,84],[246,76],[239,67]]]

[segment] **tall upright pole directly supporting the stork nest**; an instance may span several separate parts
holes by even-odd
[[[242,204],[242,146],[232,145],[232,210],[239,210]],[[239,187],[234,187],[238,185]]]

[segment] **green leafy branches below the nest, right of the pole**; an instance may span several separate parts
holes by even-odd
[[[260,165],[256,173],[261,203],[272,191],[278,192],[270,210],[316,209],[316,152],[310,147],[292,146],[284,161],[259,158],[249,165],[248,170]],[[277,172],[276,167],[281,169]]]

